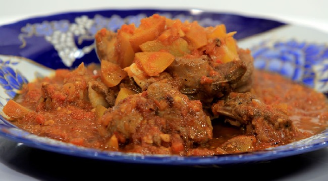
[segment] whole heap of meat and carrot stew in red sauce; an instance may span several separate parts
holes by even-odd
[[[101,29],[100,64],[25,84],[3,110],[38,136],[141,154],[250,152],[325,130],[324,94],[255,69],[235,33],[158,14]]]

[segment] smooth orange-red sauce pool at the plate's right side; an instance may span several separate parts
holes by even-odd
[[[322,93],[279,74],[259,71],[255,72],[253,91],[265,104],[287,106],[287,114],[303,133],[299,139],[320,133],[328,126],[327,99]]]

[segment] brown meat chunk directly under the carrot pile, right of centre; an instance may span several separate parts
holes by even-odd
[[[210,61],[207,55],[177,57],[167,70],[179,82],[180,92],[192,100],[200,100],[204,108],[210,107],[213,99],[231,92],[246,72],[243,61],[225,64]]]

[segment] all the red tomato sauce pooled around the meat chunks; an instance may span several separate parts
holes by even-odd
[[[15,101],[35,111],[22,118],[13,119],[13,124],[35,135],[88,148],[113,150],[113,148],[107,146],[106,130],[103,128],[101,121],[97,119],[96,111],[90,102],[87,99],[82,99],[78,103],[68,101],[74,96],[79,96],[79,93],[86,89],[86,83],[82,81],[83,76],[98,77],[93,75],[94,69],[97,69],[97,67],[89,66],[87,76],[81,75],[80,78],[68,70],[58,70],[57,75],[53,78],[44,78],[25,85],[22,93],[15,98]],[[84,79],[89,78],[84,77]],[[72,87],[69,86],[65,89],[65,93],[56,92],[57,87],[63,85],[64,79],[65,81],[74,79],[75,82],[81,79],[80,91],[72,89],[73,87],[77,88],[76,84],[72,84]],[[56,99],[58,103],[62,104],[58,105],[56,109],[41,106],[39,103],[43,94],[41,87],[44,82],[51,83],[52,87],[48,88],[47,91],[54,92],[52,99]],[[327,128],[328,104],[322,93],[293,83],[281,75],[258,70],[254,72],[251,92],[265,104],[283,107],[287,110],[286,114],[290,116],[293,124],[299,130],[290,142],[318,134]],[[67,97],[66,95],[71,96]],[[243,129],[239,127],[228,126],[215,122],[215,120],[212,120],[212,126],[213,139],[205,146],[208,150],[199,151],[195,149],[196,151],[194,150],[193,154],[210,155],[212,154],[210,150],[215,149],[215,153],[217,153],[218,146],[231,138],[245,134]],[[252,150],[264,149],[270,146],[272,145],[257,144]],[[129,147],[122,148],[120,151],[129,151]],[[138,149],[134,148],[134,151],[138,152]]]

